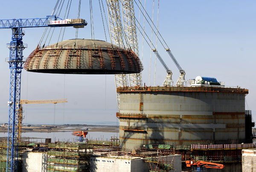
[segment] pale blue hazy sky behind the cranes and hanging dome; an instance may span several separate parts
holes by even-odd
[[[67,1],[67,0],[66,0]],[[138,1],[138,0],[137,0]],[[154,23],[157,25],[157,0],[154,0]],[[70,17],[77,17],[78,1],[70,9]],[[144,0],[141,0],[144,4]],[[1,2],[1,19],[37,18],[50,15],[56,0],[12,0]],[[104,3],[104,0],[103,0]],[[146,1],[146,10],[152,17],[153,0]],[[135,16],[139,10],[134,4]],[[186,71],[186,79],[196,76],[215,77],[227,86],[249,89],[246,109],[252,110],[256,119],[256,1],[254,0],[160,0],[159,31],[169,45],[180,66]],[[105,6],[107,10],[107,6]],[[107,14],[106,14],[107,15]],[[107,15],[108,17],[108,15]],[[90,39],[89,0],[82,0],[80,18],[88,25],[79,30],[79,38]],[[95,39],[105,40],[99,2],[93,0]],[[140,14],[140,24],[143,17]],[[60,28],[56,28],[50,44],[57,42]],[[26,58],[37,46],[44,28],[25,28],[23,42],[28,48]],[[145,26],[151,37],[151,29]],[[67,28],[64,39],[73,39],[75,29]],[[108,42],[110,42],[109,36]],[[6,43],[11,41],[11,29],[0,30],[1,85],[0,123],[8,122],[10,70],[5,59],[9,57]],[[155,36],[153,36],[155,44]],[[140,58],[143,54],[143,83],[148,85],[150,48],[139,38]],[[47,42],[48,44],[48,42]],[[158,51],[173,72],[177,81],[179,71],[157,43]],[[151,81],[154,86],[154,61],[151,56]],[[157,60],[156,85],[162,85],[166,71]],[[64,80],[65,77],[65,80]],[[64,82],[65,81],[65,82]],[[25,105],[23,124],[116,124],[116,92],[113,75],[63,75],[22,72],[21,99],[42,100],[67,98],[68,103]],[[65,84],[64,84],[65,83]],[[54,121],[55,111],[55,121]],[[53,122],[54,121],[54,122]]]

